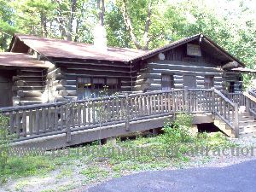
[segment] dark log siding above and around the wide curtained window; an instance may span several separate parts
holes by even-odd
[[[65,88],[68,95],[67,99],[76,100],[77,79],[78,77],[92,78],[116,78],[119,79],[120,91],[131,91],[133,84],[131,73],[136,73],[135,67],[123,62],[111,61],[55,61],[57,67],[61,67],[61,71],[67,79]]]

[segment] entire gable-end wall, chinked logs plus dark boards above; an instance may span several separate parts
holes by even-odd
[[[205,88],[205,76],[214,77],[214,88],[224,90],[224,82],[227,75],[221,66],[224,64],[216,57],[202,51],[202,56],[186,55],[186,47],[180,46],[164,52],[165,60],[160,60],[158,55],[140,63],[137,66],[137,78],[135,79],[135,91],[161,90],[162,74],[173,75],[174,88],[183,89],[183,75],[195,75],[196,88]],[[229,75],[230,77],[230,75]],[[233,79],[239,78],[239,74],[232,74]]]

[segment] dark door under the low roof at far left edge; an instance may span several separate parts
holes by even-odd
[[[12,79],[9,73],[0,73],[0,108],[10,107],[12,102]]]

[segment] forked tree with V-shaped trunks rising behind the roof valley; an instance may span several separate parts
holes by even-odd
[[[164,33],[160,25],[161,20],[157,16],[161,15],[160,3],[164,1],[119,0],[117,5],[121,8],[125,28],[137,49],[149,49],[150,41]],[[157,30],[154,30],[155,27]]]

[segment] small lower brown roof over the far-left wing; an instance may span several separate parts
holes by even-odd
[[[44,61],[38,61],[32,55],[23,53],[0,53],[0,66],[5,67],[48,67]]]

